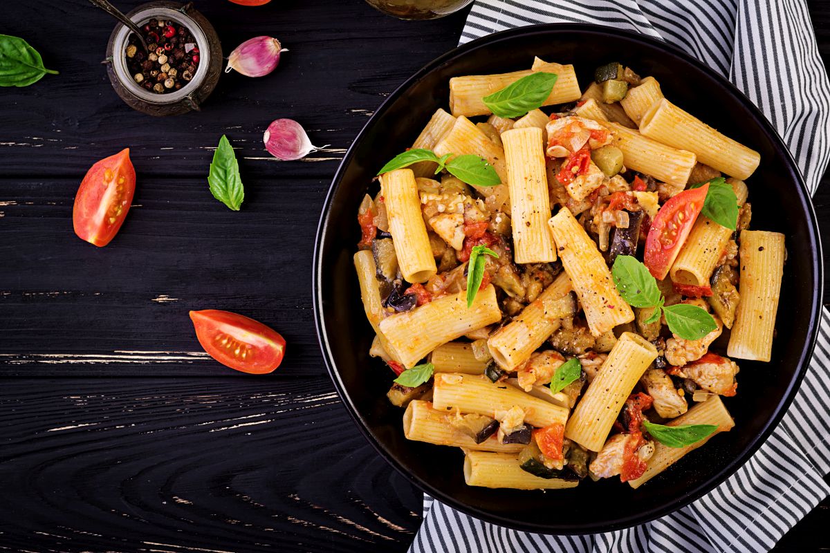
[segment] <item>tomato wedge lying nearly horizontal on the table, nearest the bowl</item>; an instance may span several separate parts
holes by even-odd
[[[222,365],[252,375],[262,375],[280,366],[286,341],[271,327],[252,318],[205,309],[191,311],[196,337],[205,352]]]

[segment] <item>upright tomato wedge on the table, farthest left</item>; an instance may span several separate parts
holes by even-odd
[[[135,169],[129,161],[129,148],[95,163],[75,196],[75,234],[90,244],[109,244],[127,217],[134,192]]]

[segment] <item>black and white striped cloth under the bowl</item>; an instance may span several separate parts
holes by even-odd
[[[815,192],[830,159],[830,83],[804,0],[477,0],[461,42],[550,22],[642,32],[696,56],[764,111]],[[424,523],[410,551],[769,551],[830,493],[822,478],[830,473],[828,403],[830,313],[825,311],[808,374],[779,428],[706,497],[623,531],[544,536],[487,524],[427,496]]]

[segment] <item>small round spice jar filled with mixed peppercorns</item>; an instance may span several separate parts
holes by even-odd
[[[144,51],[129,28],[115,27],[105,60],[115,93],[145,114],[198,111],[222,72],[222,46],[210,22],[193,2],[167,0],[142,4],[127,17],[145,32],[145,41],[154,49]],[[154,27],[148,28],[151,24]],[[151,42],[148,36],[158,36],[159,41]]]

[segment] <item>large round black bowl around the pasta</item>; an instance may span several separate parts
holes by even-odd
[[[530,67],[534,56],[572,63],[584,86],[608,61],[653,75],[672,102],[761,153],[749,179],[752,225],[787,235],[778,337],[770,363],[740,361],[739,393],[726,400],[735,429],[632,490],[618,478],[550,492],[471,488],[456,448],[404,439],[403,410],[385,397],[393,374],[369,357],[374,332],[360,303],[352,255],[361,198],[378,168],[413,143],[439,107],[448,81]],[[376,188],[372,187],[374,194]],[[822,297],[813,207],[798,169],[764,115],[734,86],[691,57],[645,36],[588,25],[524,27],[487,36],[439,57],[396,90],[349,148],[334,177],[315,252],[315,316],[326,365],[343,401],[378,453],[424,492],[473,517],[523,531],[610,531],[662,517],[715,488],[774,429],[798,389],[815,342]]]

